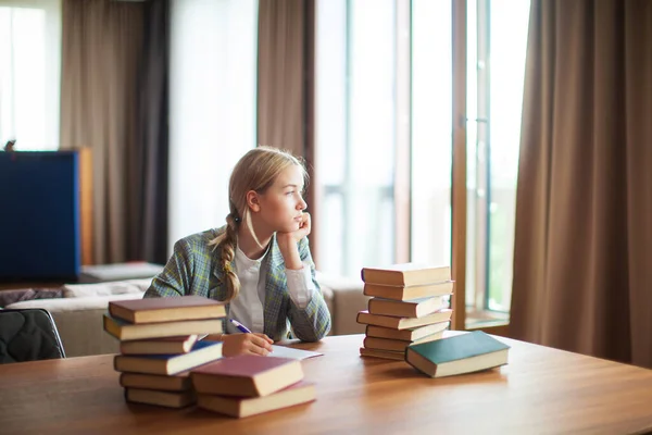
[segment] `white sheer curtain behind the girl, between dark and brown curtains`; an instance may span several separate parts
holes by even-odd
[[[222,226],[228,177],[256,138],[255,0],[173,0],[168,247]]]

